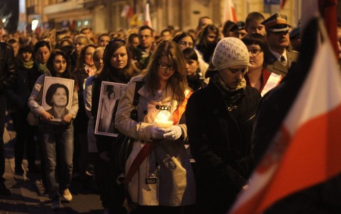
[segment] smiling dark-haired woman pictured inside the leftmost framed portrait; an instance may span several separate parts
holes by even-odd
[[[69,110],[66,108],[69,102],[69,90],[60,83],[54,83],[46,91],[46,104],[52,108],[47,110],[55,119],[62,120]]]

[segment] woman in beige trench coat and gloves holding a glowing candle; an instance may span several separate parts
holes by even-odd
[[[130,113],[138,82],[143,86],[135,121]],[[184,118],[190,95],[183,54],[174,41],[163,40],[118,104],[115,126],[135,139],[125,171],[128,207],[136,206],[134,214],[191,213],[195,181],[185,147]]]

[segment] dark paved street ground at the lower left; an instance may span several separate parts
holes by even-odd
[[[8,126],[10,125],[9,122]],[[94,188],[85,188],[79,181],[73,181],[69,188],[73,200],[69,203],[62,201],[62,209],[53,212],[51,201],[48,195],[44,194],[41,175],[27,172],[26,160],[23,161],[25,173],[23,175],[14,173],[14,139],[15,132],[5,130],[4,178],[5,185],[12,194],[0,195],[0,214],[102,214],[104,212],[100,197],[95,193]]]

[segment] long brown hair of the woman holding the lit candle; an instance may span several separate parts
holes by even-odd
[[[147,68],[143,71],[145,86],[154,94],[160,87],[158,60],[161,56],[168,57],[170,65],[174,68],[174,74],[168,79],[167,86],[173,91],[172,98],[178,105],[185,100],[185,90],[188,89],[186,79],[186,62],[179,46],[171,40],[161,41],[153,52]]]

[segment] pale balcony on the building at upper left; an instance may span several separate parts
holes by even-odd
[[[49,15],[84,8],[84,3],[85,0],[70,0],[62,3],[51,4],[44,7],[44,13],[45,15]]]

